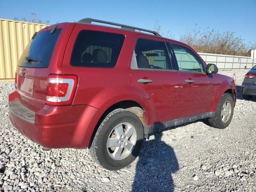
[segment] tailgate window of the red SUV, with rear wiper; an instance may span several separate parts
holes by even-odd
[[[32,68],[48,67],[60,32],[61,29],[56,29],[53,34],[50,33],[50,30],[38,33],[26,46],[18,66]],[[26,57],[37,61],[26,60]]]

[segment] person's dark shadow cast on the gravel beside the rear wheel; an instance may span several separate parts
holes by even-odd
[[[154,140],[144,141],[136,165],[133,192],[174,191],[172,173],[179,170],[176,155],[173,148],[161,140],[162,132],[154,136]]]

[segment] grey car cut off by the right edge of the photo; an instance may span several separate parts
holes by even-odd
[[[256,96],[256,66],[248,71],[244,77],[242,95],[244,99],[252,99],[253,96]]]

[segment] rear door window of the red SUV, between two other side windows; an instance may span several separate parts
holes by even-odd
[[[132,57],[132,68],[171,69],[164,42],[138,39]]]

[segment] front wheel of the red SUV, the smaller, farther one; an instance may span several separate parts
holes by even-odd
[[[230,124],[232,120],[233,112],[234,112],[233,96],[229,93],[224,93],[217,106],[217,110],[215,112],[214,117],[209,118],[208,122],[210,126],[214,128],[224,129]]]

